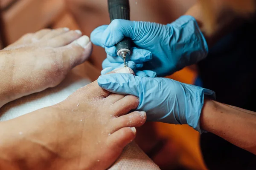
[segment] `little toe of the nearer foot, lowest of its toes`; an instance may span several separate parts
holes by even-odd
[[[109,148],[121,153],[124,147],[134,140],[135,136],[135,127],[124,127],[111,134],[108,137],[107,144]]]

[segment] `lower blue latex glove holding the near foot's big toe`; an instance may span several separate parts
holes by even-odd
[[[215,92],[209,89],[169,78],[147,78],[125,73],[102,75],[98,84],[110,92],[139,97],[137,110],[145,111],[148,121],[188,124],[200,133],[204,95],[215,97]]]

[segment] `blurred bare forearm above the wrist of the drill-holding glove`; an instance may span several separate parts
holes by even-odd
[[[236,15],[224,7],[222,1],[198,2],[185,15],[191,15],[197,20],[209,47],[242,23],[242,20],[238,20]]]

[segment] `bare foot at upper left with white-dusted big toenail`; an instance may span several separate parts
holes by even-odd
[[[91,51],[89,37],[79,30],[43,29],[24,35],[0,51],[0,107],[58,85]]]

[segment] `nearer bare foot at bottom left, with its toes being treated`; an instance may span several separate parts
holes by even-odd
[[[145,123],[145,112],[127,114],[138,104],[137,97],[111,94],[95,81],[57,105],[0,123],[8,129],[0,138],[9,136],[0,158],[11,155],[18,161],[6,162],[27,169],[105,170]]]

